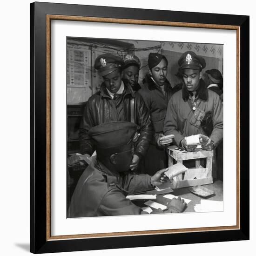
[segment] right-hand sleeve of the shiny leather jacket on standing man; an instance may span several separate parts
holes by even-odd
[[[135,93],[135,122],[140,127],[139,132],[141,134],[135,148],[135,154],[145,156],[152,139],[152,124],[148,108],[138,93]]]

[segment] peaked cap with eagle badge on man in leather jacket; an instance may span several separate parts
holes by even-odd
[[[123,60],[114,54],[101,54],[99,55],[94,63],[94,68],[98,70],[99,75],[105,76],[122,68]]]

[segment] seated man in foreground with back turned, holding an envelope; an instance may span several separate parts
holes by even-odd
[[[133,174],[129,165],[134,154],[136,124],[106,122],[89,130],[97,152],[74,190],[67,217],[119,216],[148,214],[126,195],[154,189],[167,181],[162,169],[150,176]],[[166,210],[152,213],[177,213],[186,208],[184,200],[172,199]],[[151,213],[151,214],[152,214]]]

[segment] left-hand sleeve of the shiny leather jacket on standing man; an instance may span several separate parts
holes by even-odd
[[[79,129],[80,153],[82,155],[92,155],[94,153],[94,143],[88,135],[89,129],[94,126],[94,119],[92,117],[92,103],[93,102],[90,101],[90,99],[86,103]]]

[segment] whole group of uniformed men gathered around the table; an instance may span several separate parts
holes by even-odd
[[[172,143],[191,151],[186,137],[202,134],[203,150],[215,149],[222,141],[222,75],[207,70],[205,60],[192,51],[178,61],[182,84],[167,80],[168,60],[159,53],[148,55],[149,72],[143,86],[138,83],[140,60],[134,54],[122,59],[101,54],[94,68],[103,82],[85,106],[80,126],[81,154],[96,151],[81,175],[68,209],[68,217],[147,214],[126,195],[152,190],[167,181],[164,135],[175,135]],[[182,212],[184,200],[171,200],[166,210]],[[151,214],[152,214],[151,213]]]

